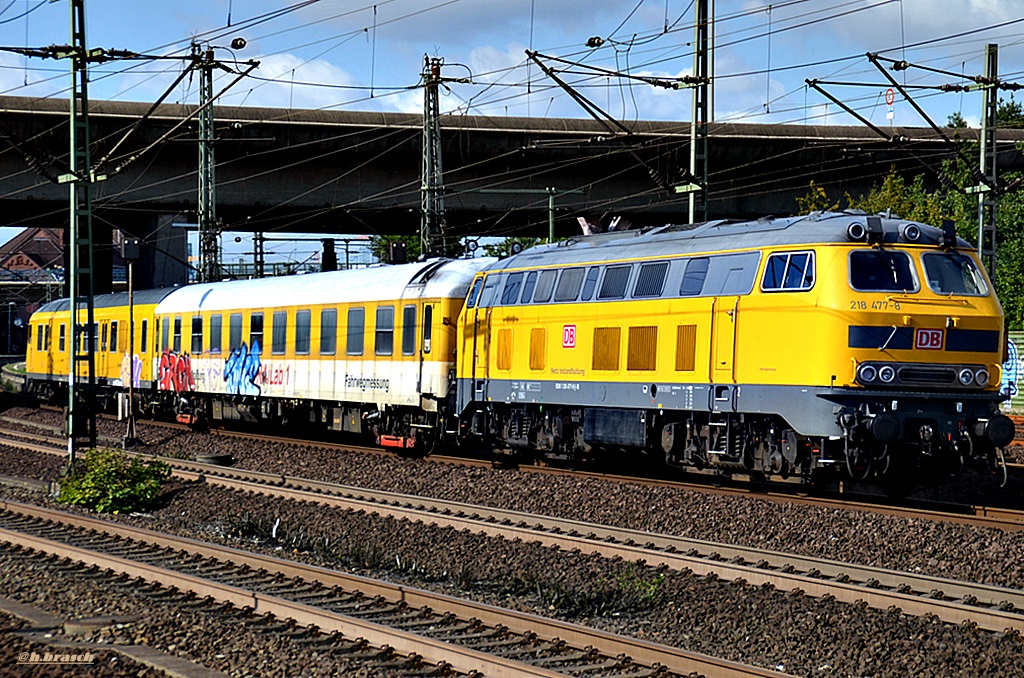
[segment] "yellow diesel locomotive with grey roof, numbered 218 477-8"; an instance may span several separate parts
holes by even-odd
[[[477,273],[463,435],[581,458],[919,479],[1013,438],[1002,310],[968,244],[855,213],[538,247]]]

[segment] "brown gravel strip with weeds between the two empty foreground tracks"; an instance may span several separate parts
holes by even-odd
[[[152,514],[115,519],[568,619],[795,675],[1013,676],[1024,650],[1016,636],[897,611],[205,483],[174,482],[168,498]],[[275,524],[274,539],[270,534]],[[36,584],[31,580],[27,586],[33,590]],[[134,601],[117,604],[138,613]],[[153,619],[147,612],[142,617]]]

